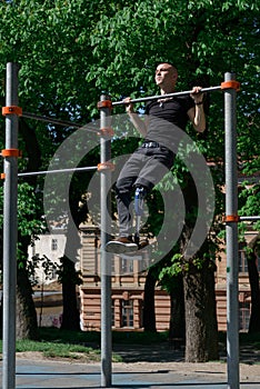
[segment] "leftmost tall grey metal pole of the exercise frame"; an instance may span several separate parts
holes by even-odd
[[[7,64],[6,104],[18,106],[18,66]],[[6,117],[6,149],[18,148],[18,117]],[[17,157],[4,159],[2,389],[16,388]]]

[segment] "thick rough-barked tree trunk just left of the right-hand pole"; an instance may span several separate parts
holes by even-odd
[[[209,262],[200,270],[190,265],[183,278],[187,362],[219,359],[213,270]]]

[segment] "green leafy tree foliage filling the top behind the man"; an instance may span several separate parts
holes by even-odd
[[[8,61],[20,64],[20,106],[24,111],[83,123],[98,118],[97,101],[102,91],[112,99],[157,93],[153,70],[158,61],[176,63],[179,90],[190,89],[194,83],[220,84],[226,71],[236,72],[241,82],[239,171],[248,176],[259,170],[259,4],[254,0],[12,0],[1,1],[0,12],[2,104]],[[196,140],[203,154],[217,163],[212,176],[216,188],[221,188],[224,150],[221,92],[211,93],[208,99],[208,131]],[[27,123],[39,143],[39,168],[46,168],[73,129],[30,120]],[[3,120],[0,127],[3,128]],[[192,129],[188,131],[194,137]],[[26,170],[28,161],[32,161],[30,137],[22,133],[20,137],[24,159],[19,163]],[[114,152],[120,152],[122,142],[114,143]],[[74,182],[71,193],[77,201],[84,186],[83,180]],[[36,186],[42,188],[41,178]],[[217,194],[217,215],[221,215],[223,197],[220,191]],[[258,212],[257,194],[259,190],[244,186],[240,193],[241,212]],[[31,236],[38,232],[33,229],[38,228],[39,219],[33,220],[30,207],[23,207],[22,198],[20,201],[19,215],[26,216],[21,229]],[[216,223],[214,228],[221,226]],[[173,269],[178,269],[176,261]]]

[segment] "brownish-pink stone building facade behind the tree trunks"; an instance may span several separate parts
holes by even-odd
[[[257,232],[248,230],[246,240],[249,243],[256,239]],[[100,330],[101,326],[101,286],[99,260],[99,230],[93,227],[81,228],[81,272],[83,283],[80,286],[81,327],[83,330]],[[142,307],[146,271],[139,271],[139,260],[128,263],[118,256],[112,269],[112,327],[116,330],[142,330]],[[114,275],[113,275],[114,273]],[[227,330],[227,262],[224,252],[217,263],[216,271],[216,298],[218,329]],[[156,323],[157,330],[169,329],[170,323],[170,297],[156,288]],[[247,255],[243,249],[239,251],[239,317],[240,330],[248,330],[251,307],[251,292],[247,271]]]

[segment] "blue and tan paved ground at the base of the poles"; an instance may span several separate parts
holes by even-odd
[[[227,388],[224,363],[193,365],[172,363],[114,363],[111,386],[121,389],[181,388],[224,389]],[[186,372],[184,372],[186,371]],[[19,389],[82,389],[101,388],[99,363],[70,363],[47,360],[17,360],[17,388]],[[260,367],[241,367],[241,389],[260,388]],[[11,389],[11,388],[10,388]]]

